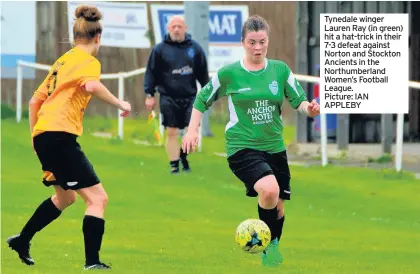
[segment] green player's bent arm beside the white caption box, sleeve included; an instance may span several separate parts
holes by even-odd
[[[312,102],[308,101],[305,90],[294,76],[292,70],[287,65],[285,69],[285,96],[290,105],[309,117],[319,115],[319,104],[315,100],[312,100]]]

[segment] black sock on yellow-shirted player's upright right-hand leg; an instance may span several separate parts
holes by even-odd
[[[105,232],[105,220],[86,215],[83,219],[83,237],[85,241],[86,265],[97,264]]]

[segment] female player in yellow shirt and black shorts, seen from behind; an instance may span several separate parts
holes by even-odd
[[[100,82],[101,64],[95,56],[100,47],[102,14],[96,7],[83,5],[75,16],[75,46],[54,63],[29,103],[33,147],[44,172],[43,183],[52,185],[55,194],[42,202],[22,231],[7,242],[25,264],[33,265],[29,254],[33,236],[73,204],[77,193],[87,207],[83,219],[84,269],[110,269],[99,259],[108,196],[77,138],[83,133],[83,116],[92,95],[121,109],[124,116],[131,106]]]

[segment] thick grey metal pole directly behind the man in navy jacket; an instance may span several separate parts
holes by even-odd
[[[209,1],[184,1],[184,16],[187,32],[209,55]],[[211,108],[203,114],[203,136],[213,136],[210,130]]]

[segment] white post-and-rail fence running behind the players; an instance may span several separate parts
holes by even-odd
[[[22,84],[23,84],[23,67],[40,69],[44,71],[49,71],[51,66],[30,63],[26,61],[18,61],[17,66],[17,85],[16,85],[16,121],[19,123],[22,119]],[[141,75],[146,72],[146,68],[140,68],[129,72],[120,72],[120,73],[111,73],[111,74],[102,74],[101,79],[118,79],[118,99],[124,100],[124,80],[133,76]],[[214,75],[210,73],[210,76]],[[307,83],[319,83],[319,77],[308,76],[308,75],[299,75],[295,74],[295,77],[298,81],[307,82]],[[408,85],[410,88],[419,89],[420,83],[409,81]],[[121,110],[118,110],[118,136],[120,139],[124,138],[124,118],[120,116]],[[327,155],[327,118],[326,114],[321,114],[321,150],[322,150],[322,165],[326,166],[328,164],[328,155]],[[161,120],[161,116],[160,116]],[[162,124],[160,122],[160,124]],[[160,128],[163,136],[163,127]],[[402,170],[402,155],[403,155],[403,133],[404,133],[404,114],[397,114],[397,135],[396,135],[396,151],[395,151],[395,169],[397,171]],[[202,150],[202,129],[200,126],[199,130],[199,143],[198,151]]]

